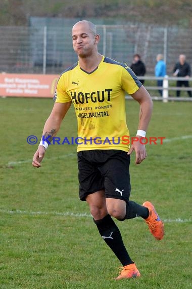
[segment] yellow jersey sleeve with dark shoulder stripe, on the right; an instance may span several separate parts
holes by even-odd
[[[136,92],[142,84],[133,73],[130,67],[126,64],[122,67],[122,74],[121,74],[121,87],[125,90],[128,94],[133,94]]]

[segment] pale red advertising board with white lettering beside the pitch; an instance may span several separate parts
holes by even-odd
[[[0,74],[0,96],[53,97],[59,75]]]

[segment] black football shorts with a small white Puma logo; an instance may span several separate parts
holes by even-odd
[[[78,156],[79,197],[105,190],[106,198],[128,202],[131,185],[130,156],[120,150],[80,151]]]

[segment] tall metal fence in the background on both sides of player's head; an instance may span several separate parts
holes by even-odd
[[[158,53],[164,54],[168,75],[172,75],[179,54],[192,63],[191,29],[133,24],[97,27],[100,53],[128,65],[133,54],[139,53],[148,75],[154,74]],[[60,74],[77,60],[69,26],[0,26],[0,37],[0,71]]]

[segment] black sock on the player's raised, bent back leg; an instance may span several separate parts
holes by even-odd
[[[141,206],[133,201],[128,201],[126,209],[127,210],[125,218],[119,221],[124,221],[126,219],[133,219],[136,218],[137,216],[141,216],[143,219],[147,219],[149,216],[148,208]]]

